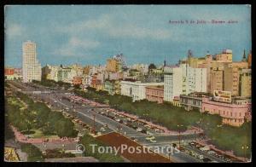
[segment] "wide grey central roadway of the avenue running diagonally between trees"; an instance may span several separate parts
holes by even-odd
[[[15,85],[13,87],[14,89],[16,86],[19,86],[23,92],[26,92],[26,94],[29,94],[38,100],[47,102],[49,105],[51,105],[51,107],[55,109],[62,110],[64,108],[68,108],[66,112],[76,115],[85,124],[89,124],[92,127],[95,125],[97,131],[99,131],[100,128],[104,126],[104,124],[108,124],[108,130],[106,130],[106,132],[104,133],[108,133],[111,131],[118,131],[119,133],[127,137],[136,138],[139,144],[142,144],[143,146],[147,146],[147,147],[150,147],[150,146],[166,147],[166,145],[171,145],[173,142],[177,142],[178,140],[177,135],[154,134],[155,140],[157,142],[152,143],[150,141],[147,141],[145,138],[148,135],[137,132],[137,130],[132,129],[131,127],[126,126],[125,124],[120,124],[119,122],[96,112],[96,111],[99,111],[100,108],[82,106],[81,104],[76,104],[74,102],[63,99],[63,97],[68,97],[68,95],[65,94],[67,93],[67,90],[62,90],[62,89],[52,90],[52,89],[44,88],[41,85],[38,86],[38,88],[32,88],[32,86],[30,86],[29,84],[17,83],[17,82],[15,83],[11,82],[11,83]],[[46,91],[46,93],[43,92],[41,94],[33,94],[32,91],[42,91],[42,92]],[[181,139],[183,141],[193,141],[195,139],[195,135],[181,135]],[[167,152],[165,152],[164,155],[166,157],[170,156]],[[201,162],[199,159],[192,157],[189,154],[183,153],[183,152],[174,153],[173,155],[171,155],[171,158],[175,162]],[[212,159],[212,160],[216,161],[216,159]],[[218,161],[218,162],[221,162],[221,161]]]

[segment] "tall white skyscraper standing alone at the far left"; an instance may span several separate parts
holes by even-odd
[[[22,77],[23,82],[41,81],[42,69],[37,59],[37,44],[26,41],[22,45]]]

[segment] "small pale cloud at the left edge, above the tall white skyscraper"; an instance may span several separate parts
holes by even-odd
[[[25,29],[18,24],[5,26],[5,33],[7,37],[20,37],[24,32]]]

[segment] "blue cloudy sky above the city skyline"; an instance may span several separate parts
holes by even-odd
[[[103,65],[120,53],[128,65],[176,64],[189,49],[198,57],[232,49],[237,61],[252,47],[249,5],[9,5],[4,13],[5,66],[22,66],[27,40],[42,66]]]

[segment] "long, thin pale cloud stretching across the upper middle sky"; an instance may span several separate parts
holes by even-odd
[[[171,37],[171,32],[166,29],[146,28],[131,23],[116,23],[109,14],[103,14],[96,20],[85,20],[69,26],[61,26],[57,28],[57,31],[70,34],[96,31],[96,33],[105,33],[111,37],[149,37],[152,39],[167,39]]]

